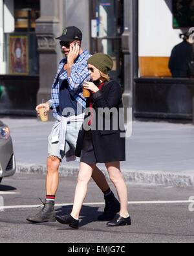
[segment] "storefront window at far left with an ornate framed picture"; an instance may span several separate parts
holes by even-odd
[[[5,33],[7,75],[38,75],[36,19],[39,0],[14,0],[14,32]]]

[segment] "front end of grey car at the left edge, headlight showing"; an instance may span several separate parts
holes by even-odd
[[[10,129],[0,121],[0,183],[4,177],[13,176],[16,172]]]

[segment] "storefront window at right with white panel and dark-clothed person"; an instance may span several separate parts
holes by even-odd
[[[194,27],[193,0],[139,0],[140,77],[173,76],[169,65],[171,54],[175,46],[183,42],[173,62],[176,66],[180,62],[178,69],[187,67],[188,73],[191,60],[186,55],[190,51],[188,56],[191,56],[193,50],[184,35],[191,27]],[[189,75],[184,74],[184,77]]]

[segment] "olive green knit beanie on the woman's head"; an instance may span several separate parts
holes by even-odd
[[[98,70],[104,74],[108,74],[113,69],[113,60],[111,56],[104,53],[96,53],[89,60],[87,64],[94,65]]]

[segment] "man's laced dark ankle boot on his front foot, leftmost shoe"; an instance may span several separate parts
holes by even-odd
[[[54,202],[45,200],[43,209],[36,215],[28,216],[27,220],[32,223],[56,222]]]

